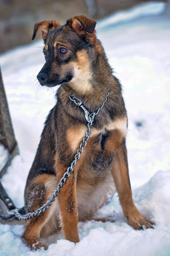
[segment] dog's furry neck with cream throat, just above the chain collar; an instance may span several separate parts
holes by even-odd
[[[63,88],[69,95],[83,101],[87,108],[95,111],[104,101],[113,80],[112,69],[102,51],[101,54],[96,54],[93,62],[86,63],[84,67],[77,66],[74,78],[63,85]],[[93,102],[93,106],[89,102]]]

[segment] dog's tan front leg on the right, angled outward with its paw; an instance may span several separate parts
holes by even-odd
[[[128,171],[126,140],[125,138],[118,140],[117,134],[115,141],[116,144],[113,143],[115,159],[111,166],[111,173],[115,181],[124,216],[127,218],[128,224],[135,230],[142,229],[142,226],[145,226],[146,228],[153,227],[152,225],[154,223],[149,219],[142,217],[133,203]]]

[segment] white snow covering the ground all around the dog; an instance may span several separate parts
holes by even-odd
[[[148,15],[149,10],[157,15],[141,17],[138,8],[138,15],[131,15],[135,20],[125,12],[121,22],[113,16],[98,27],[98,36],[124,88],[133,198],[139,211],[156,222],[155,229],[135,231],[128,226],[115,195],[99,212],[115,211],[115,223],[79,223],[81,241],[76,245],[59,232],[46,240],[53,243],[47,251],[31,252],[20,239],[22,225],[0,224],[0,256],[170,256],[170,16],[158,15],[163,8],[161,3],[152,8],[148,5],[142,15]],[[23,206],[26,177],[45,116],[55,104],[53,90],[32,84],[44,63],[37,45],[42,42],[0,57],[20,147],[20,156],[15,157],[2,181],[18,207]]]

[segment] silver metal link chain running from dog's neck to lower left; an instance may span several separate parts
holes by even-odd
[[[86,130],[86,135],[83,137],[83,140],[81,141],[80,147],[78,148],[77,154],[75,155],[75,159],[72,161],[71,165],[68,167],[67,171],[64,173],[63,177],[61,178],[60,182],[58,183],[57,188],[55,189],[54,193],[52,193],[52,196],[49,198],[49,200],[46,202],[46,204],[43,204],[42,207],[38,208],[37,210],[35,210],[34,212],[28,212],[25,215],[21,215],[19,213],[19,209],[14,209],[14,216],[15,218],[22,220],[22,221],[26,221],[30,218],[33,218],[35,216],[40,215],[42,212],[45,212],[46,209],[49,208],[49,206],[52,205],[52,203],[55,201],[55,198],[57,197],[57,194],[60,192],[60,189],[62,188],[63,184],[66,183],[66,180],[69,178],[70,174],[74,171],[73,167],[76,166],[77,164],[77,160],[80,159],[81,154],[84,151],[84,148],[87,145],[87,140],[89,140],[89,134],[91,132],[90,127],[92,126],[92,123],[94,121],[95,115],[98,114],[98,112],[101,110],[101,108],[103,108],[104,103],[107,101],[107,97],[109,96],[109,91],[105,97],[104,102],[102,103],[101,107],[98,108],[98,110],[95,112],[93,111],[92,113],[89,113],[89,121],[87,123],[87,127],[88,129]],[[69,96],[69,98],[75,102],[76,105],[78,105],[78,102],[81,102],[79,99],[77,98],[71,98],[71,96]],[[81,102],[81,105],[83,103]],[[80,105],[80,104],[79,104]],[[78,105],[78,106],[79,106]]]

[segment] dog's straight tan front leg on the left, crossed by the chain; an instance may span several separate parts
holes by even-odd
[[[56,170],[57,170],[57,182],[60,182],[63,174],[67,168],[61,163],[58,157],[56,157]],[[74,168],[74,173],[70,174],[70,177],[63,184],[63,187],[58,194],[58,202],[60,208],[62,229],[65,238],[71,242],[77,243],[80,241],[78,235],[78,209],[76,198],[76,182],[77,182],[77,169]]]

